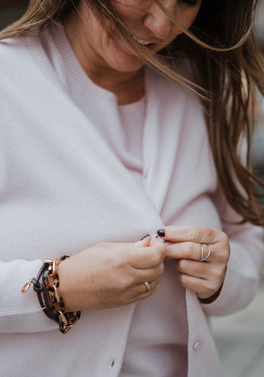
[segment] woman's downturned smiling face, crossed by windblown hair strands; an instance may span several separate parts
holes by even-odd
[[[177,4],[176,1],[171,2]],[[159,8],[139,11],[138,8],[144,8],[140,0],[129,0],[129,5],[132,6],[127,6],[127,0],[120,0],[116,4],[115,8],[134,40],[148,51],[160,51],[182,32]],[[189,28],[198,10],[199,7],[185,7],[183,11],[180,8],[182,13],[179,13],[178,20],[185,28]],[[80,2],[79,13],[69,15],[64,20],[64,25],[75,54],[88,75],[91,70],[94,74],[98,70],[101,75],[104,69],[108,74],[109,70],[135,72],[144,66],[129,44],[113,31],[110,21],[106,20],[103,25],[85,0]]]

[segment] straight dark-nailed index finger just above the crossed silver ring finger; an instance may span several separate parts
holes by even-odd
[[[163,229],[165,230],[165,236],[162,236],[162,238],[173,242],[192,241],[196,243],[215,244],[215,242],[221,240],[221,233],[223,233],[217,229],[200,227],[198,225],[173,225],[164,227]]]

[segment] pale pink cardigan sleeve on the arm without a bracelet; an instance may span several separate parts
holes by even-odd
[[[238,214],[227,204],[221,189],[213,196],[222,219],[239,221]],[[246,307],[258,289],[259,267],[264,256],[263,229],[246,223],[231,225],[223,222],[224,233],[230,244],[230,258],[218,298],[212,303],[201,303],[206,314],[224,316]]]

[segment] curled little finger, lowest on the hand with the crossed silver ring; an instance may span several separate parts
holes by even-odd
[[[183,274],[181,272],[178,273],[178,278],[184,288],[196,292],[201,299],[207,299],[221,287],[220,282],[217,280],[207,280],[201,277]]]

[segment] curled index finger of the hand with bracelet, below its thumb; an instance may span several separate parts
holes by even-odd
[[[166,252],[167,249],[163,242],[155,238],[153,241],[151,239],[149,247],[134,247],[129,245],[127,248],[127,259],[128,263],[134,268],[151,268],[163,262]]]

